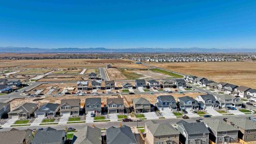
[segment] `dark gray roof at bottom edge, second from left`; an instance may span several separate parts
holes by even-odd
[[[65,135],[64,130],[46,128],[46,130],[36,132],[32,144],[62,144],[62,137]]]

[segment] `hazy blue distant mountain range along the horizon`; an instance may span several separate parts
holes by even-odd
[[[253,48],[27,48],[0,47],[0,53],[235,53]]]

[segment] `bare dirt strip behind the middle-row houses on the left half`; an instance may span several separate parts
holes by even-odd
[[[47,96],[45,98],[43,98],[43,97],[39,97],[39,98],[19,98],[19,99],[12,100],[10,102],[10,104],[11,104],[11,110],[12,110],[13,108],[16,108],[16,107],[24,104],[25,102],[37,103],[40,107],[44,103],[61,104],[61,99],[71,99],[71,98],[80,98],[81,103],[85,103],[85,98],[91,98],[91,97],[101,97],[101,102],[104,102],[104,103],[107,102],[107,98],[118,98],[118,96],[61,96],[61,97]],[[38,100],[38,99],[41,99],[41,100]],[[33,100],[37,100],[37,101],[33,101]]]

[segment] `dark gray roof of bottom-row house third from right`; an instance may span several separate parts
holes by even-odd
[[[188,134],[209,133],[209,130],[206,127],[204,122],[188,123],[183,120],[183,121],[178,121],[177,124],[180,125],[183,128],[183,130],[185,130]]]

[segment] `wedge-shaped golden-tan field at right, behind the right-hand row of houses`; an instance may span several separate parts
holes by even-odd
[[[227,82],[256,88],[256,62],[180,62],[151,63],[173,72],[203,76],[216,82]]]

